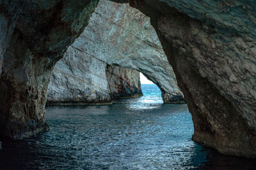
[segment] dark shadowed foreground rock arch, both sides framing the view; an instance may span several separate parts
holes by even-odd
[[[2,135],[20,139],[44,130],[50,71],[83,31],[96,3],[0,2]],[[221,153],[256,157],[256,3],[130,4],[148,15],[156,29],[193,116],[193,139]]]

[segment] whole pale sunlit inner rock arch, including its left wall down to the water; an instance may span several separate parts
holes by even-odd
[[[164,102],[184,102],[148,17],[128,4],[100,1],[89,26],[56,64],[47,104],[97,104],[111,102],[112,96],[139,96],[135,70],[161,88]]]

